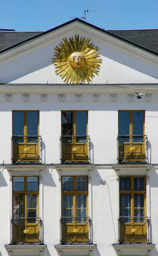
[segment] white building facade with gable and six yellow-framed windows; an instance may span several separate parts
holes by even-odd
[[[102,60],[77,85],[75,35]],[[3,256],[158,255],[158,53],[72,20],[0,51],[0,107]]]

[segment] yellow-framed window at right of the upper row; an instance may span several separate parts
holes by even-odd
[[[144,160],[145,142],[144,111],[118,112],[118,160]]]

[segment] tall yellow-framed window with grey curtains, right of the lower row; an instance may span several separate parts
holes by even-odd
[[[147,241],[146,176],[120,176],[120,241]]]

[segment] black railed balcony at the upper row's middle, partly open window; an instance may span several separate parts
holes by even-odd
[[[60,136],[60,160],[90,161],[90,137],[89,136]]]

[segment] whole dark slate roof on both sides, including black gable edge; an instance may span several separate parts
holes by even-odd
[[[54,27],[45,32],[4,32],[0,31],[0,54],[29,42],[30,40],[36,39],[47,33],[53,32],[67,26],[73,22],[80,22],[84,25],[90,26],[93,29],[108,34],[109,36],[115,37],[128,44],[133,45],[139,49],[143,49],[151,54],[158,56],[158,29],[143,29],[143,30],[104,30],[96,27],[88,22],[75,18],[60,26]]]

